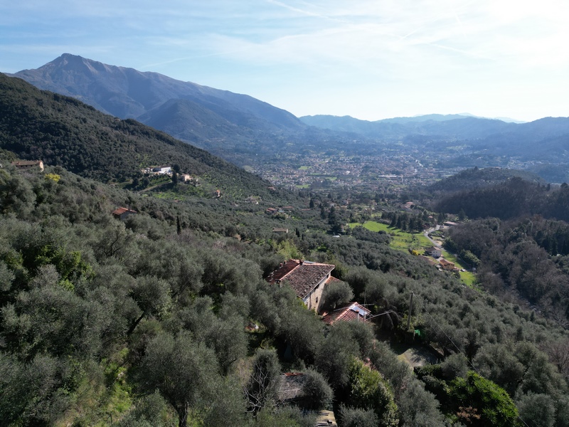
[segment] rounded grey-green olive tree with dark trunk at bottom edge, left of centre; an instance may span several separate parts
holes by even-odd
[[[158,389],[186,427],[191,408],[205,406],[219,381],[216,355],[182,332],[177,337],[161,333],[151,339],[141,367],[144,384]]]

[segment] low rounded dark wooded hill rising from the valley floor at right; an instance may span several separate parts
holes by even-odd
[[[462,191],[486,186],[501,184],[508,179],[518,177],[533,184],[547,184],[546,180],[536,174],[518,169],[503,169],[499,167],[486,167],[479,169],[465,169],[458,174],[448,176],[435,182],[427,189],[429,191]]]

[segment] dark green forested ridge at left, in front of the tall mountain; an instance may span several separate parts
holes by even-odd
[[[142,167],[179,164],[235,196],[270,196],[268,181],[203,149],[1,73],[0,147],[100,181],[128,179]]]

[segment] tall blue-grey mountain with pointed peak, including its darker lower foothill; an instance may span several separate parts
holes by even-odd
[[[122,119],[134,118],[236,164],[247,164],[275,136],[306,130],[297,117],[248,95],[142,73],[65,53],[34,70],[12,76],[43,90],[75,97]],[[228,145],[254,147],[240,156]]]

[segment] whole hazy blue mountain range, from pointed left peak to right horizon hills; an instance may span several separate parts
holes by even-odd
[[[297,118],[248,95],[68,53],[14,76],[117,117],[134,118],[240,166],[286,156],[287,152],[373,154],[393,152],[393,147],[405,152],[405,147],[413,147],[418,154],[425,152],[432,157],[457,146],[462,149],[454,149],[455,165],[506,166],[509,159],[537,162],[536,168],[542,170],[536,172],[552,181],[566,174],[569,163],[568,117],[527,123],[470,115],[395,117],[374,122],[349,116]],[[558,170],[561,172],[547,176]]]

